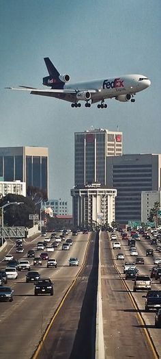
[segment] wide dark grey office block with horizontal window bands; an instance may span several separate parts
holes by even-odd
[[[106,185],[117,188],[116,221],[141,221],[141,192],[159,190],[160,154],[106,158]]]

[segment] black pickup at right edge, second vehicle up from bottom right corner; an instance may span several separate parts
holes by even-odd
[[[145,312],[149,312],[149,309],[161,308],[161,290],[149,290],[147,295],[142,295],[145,298]]]

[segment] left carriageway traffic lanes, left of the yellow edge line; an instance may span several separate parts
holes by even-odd
[[[49,253],[50,258],[57,259],[57,269],[47,269],[46,261],[43,262],[42,267],[31,267],[31,270],[38,270],[41,276],[50,277],[55,282],[53,297],[50,295],[35,297],[33,284],[25,283],[26,271],[19,272],[17,280],[8,280],[8,285],[14,289],[14,301],[0,303],[0,358],[31,358],[59,302],[83,264],[88,239],[89,234],[72,236],[74,244],[70,247],[70,251],[62,251],[61,247],[58,247],[54,253]],[[10,253],[14,253],[16,258],[27,258],[27,251],[34,249],[38,240],[40,238],[33,243],[27,243],[23,256],[17,255],[15,248]],[[70,256],[79,258],[79,267],[69,267]],[[32,260],[30,262],[33,263]],[[3,263],[1,267],[5,267]]]

